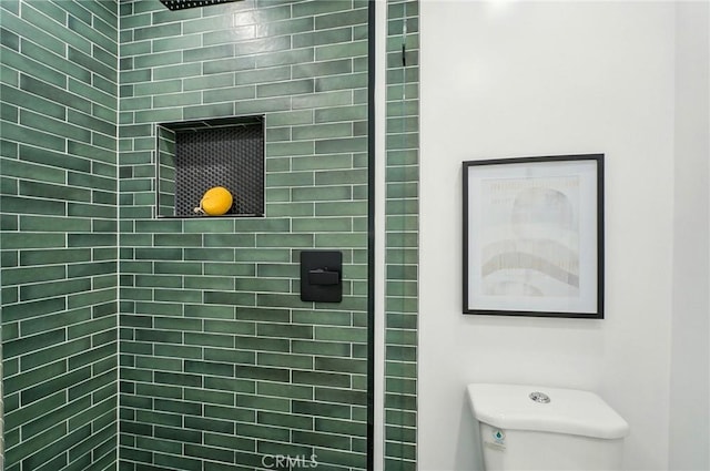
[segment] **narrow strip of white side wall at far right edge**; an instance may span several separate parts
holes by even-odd
[[[676,17],[670,469],[710,469],[710,3]]]

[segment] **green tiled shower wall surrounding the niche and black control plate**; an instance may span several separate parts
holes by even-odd
[[[121,470],[366,468],[367,11],[120,2]],[[155,219],[155,123],[248,114],[266,216]],[[313,248],[342,304],[300,300]]]

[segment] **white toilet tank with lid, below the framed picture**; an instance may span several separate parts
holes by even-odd
[[[468,386],[484,465],[496,470],[619,470],[629,424],[594,392]]]

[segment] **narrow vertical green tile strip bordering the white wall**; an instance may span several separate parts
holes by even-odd
[[[417,469],[418,7],[417,0],[387,1],[384,411],[387,471]]]

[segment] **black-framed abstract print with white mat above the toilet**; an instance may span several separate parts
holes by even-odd
[[[464,162],[464,314],[604,318],[604,154]]]

